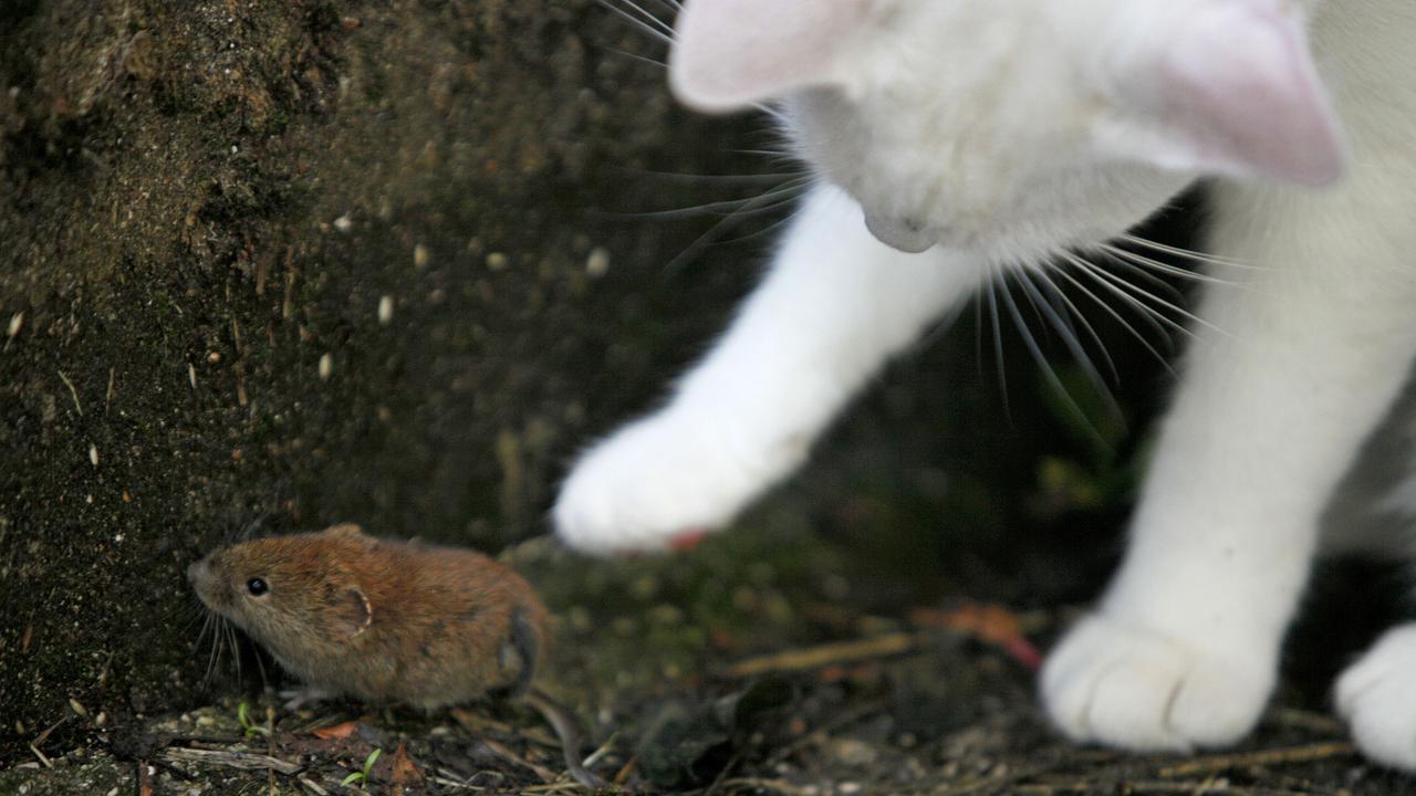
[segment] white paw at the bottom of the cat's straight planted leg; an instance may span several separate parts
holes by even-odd
[[[1044,666],[1042,698],[1075,741],[1171,752],[1222,746],[1259,721],[1274,683],[1267,657],[1092,615]]]

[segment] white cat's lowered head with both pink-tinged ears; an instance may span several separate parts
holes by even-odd
[[[1197,176],[1344,161],[1294,0],[687,0],[670,75],[704,110],[777,102],[905,251],[1082,244]]]

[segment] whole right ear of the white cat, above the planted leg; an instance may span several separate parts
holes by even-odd
[[[1113,65],[1129,120],[1107,142],[1161,166],[1324,186],[1345,147],[1300,20],[1274,3],[1208,3]],[[1138,120],[1137,120],[1138,119]]]

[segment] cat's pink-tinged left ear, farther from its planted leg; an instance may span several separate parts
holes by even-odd
[[[838,82],[840,57],[875,0],[687,0],[668,55],[678,99],[736,110]]]

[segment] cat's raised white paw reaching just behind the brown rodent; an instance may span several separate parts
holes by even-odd
[[[687,547],[675,540],[721,528],[794,465],[743,453],[726,436],[690,414],[660,412],[624,426],[571,470],[552,510],[556,534],[607,554]]]

